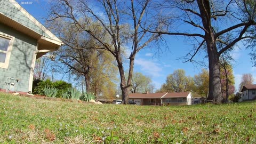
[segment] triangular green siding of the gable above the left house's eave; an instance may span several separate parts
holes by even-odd
[[[10,19],[21,23],[22,25],[28,27],[36,31],[36,33],[51,38],[47,35],[41,28],[35,25],[33,21],[31,21],[25,14],[23,14],[16,6],[15,3],[10,2],[8,0],[2,0],[0,4],[0,13],[9,17]]]

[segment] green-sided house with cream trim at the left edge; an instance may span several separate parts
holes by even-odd
[[[36,59],[62,42],[13,0],[0,1],[0,91],[31,93]]]

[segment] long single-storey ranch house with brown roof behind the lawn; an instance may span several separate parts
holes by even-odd
[[[190,92],[165,92],[165,93],[130,93],[129,100],[137,105],[191,105]]]

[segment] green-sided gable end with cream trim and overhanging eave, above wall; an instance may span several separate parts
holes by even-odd
[[[32,38],[37,39],[37,58],[47,52],[58,50],[60,39],[46,29],[39,21],[13,0],[2,0],[0,22]]]

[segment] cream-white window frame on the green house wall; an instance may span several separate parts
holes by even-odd
[[[0,68],[7,69],[9,67],[9,61],[10,61],[10,57],[11,57],[12,45],[13,45],[13,42],[14,42],[14,37],[10,36],[10,35],[7,35],[7,34],[4,34],[2,32],[0,32],[0,37],[10,40],[9,46],[7,47],[5,62],[0,62]],[[0,52],[4,52],[5,53],[5,51],[2,51],[2,50],[0,50]]]

